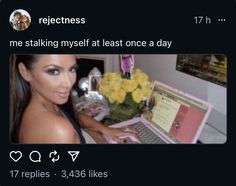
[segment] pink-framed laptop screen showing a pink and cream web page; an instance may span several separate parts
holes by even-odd
[[[157,82],[148,107],[152,123],[181,143],[195,140],[209,114],[208,103]]]

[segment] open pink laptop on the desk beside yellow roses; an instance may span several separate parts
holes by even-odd
[[[212,105],[155,81],[147,108],[141,117],[111,127],[135,129],[142,144],[196,143]]]

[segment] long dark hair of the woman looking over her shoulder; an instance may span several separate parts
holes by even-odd
[[[23,63],[30,70],[39,56],[17,54],[10,56],[10,133],[13,143],[19,142],[22,116],[31,99],[30,84],[21,76],[18,66]],[[71,98],[62,107],[78,122]]]

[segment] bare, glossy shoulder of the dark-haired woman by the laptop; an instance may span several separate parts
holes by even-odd
[[[20,129],[23,143],[74,143],[75,131],[63,116],[50,112],[25,114]]]

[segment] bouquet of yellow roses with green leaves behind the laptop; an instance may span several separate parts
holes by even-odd
[[[106,124],[128,120],[140,113],[151,92],[149,77],[134,69],[131,78],[116,72],[107,72],[100,81],[99,93],[105,96],[110,107]]]

